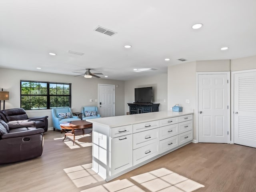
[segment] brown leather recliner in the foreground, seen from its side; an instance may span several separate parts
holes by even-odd
[[[0,164],[42,155],[44,130],[35,125],[34,121],[7,124],[0,119]]]

